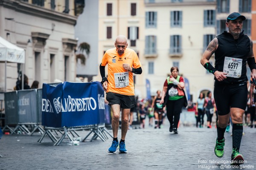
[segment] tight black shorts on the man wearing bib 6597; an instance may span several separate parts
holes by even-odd
[[[230,113],[230,108],[246,108],[248,91],[245,81],[228,85],[215,82],[213,93],[218,115]]]

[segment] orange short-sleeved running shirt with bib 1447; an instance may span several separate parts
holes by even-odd
[[[109,49],[102,58],[102,66],[108,64],[108,92],[134,96],[133,73],[125,70],[122,65],[129,64],[133,68],[140,68],[141,63],[136,52],[126,48],[119,56],[116,48]]]

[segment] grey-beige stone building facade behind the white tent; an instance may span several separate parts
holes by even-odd
[[[25,64],[7,64],[7,91],[16,85],[18,72],[43,83],[75,81],[77,40],[74,25],[79,6],[69,0],[0,0],[0,36],[25,49]],[[0,63],[0,91],[4,89]]]

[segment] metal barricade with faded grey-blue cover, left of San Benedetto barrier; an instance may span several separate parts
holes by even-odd
[[[41,133],[44,132],[44,129],[40,127],[42,122],[41,89],[6,92],[4,96],[6,126],[3,130],[9,129],[10,134],[17,131],[17,133],[32,135],[39,128]],[[29,128],[31,130],[33,128],[32,133]]]

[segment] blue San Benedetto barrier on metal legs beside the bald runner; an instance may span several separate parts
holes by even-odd
[[[64,82],[56,86],[43,84],[42,125],[45,126],[45,132],[38,142],[46,134],[55,142],[54,145],[59,145],[65,136],[74,141],[68,132],[88,128],[91,131],[82,141],[92,132],[94,135],[90,141],[97,137],[105,141],[105,132],[108,131],[105,128],[105,98],[101,83]],[[64,133],[57,140],[50,130],[64,130]]]

